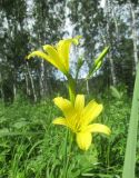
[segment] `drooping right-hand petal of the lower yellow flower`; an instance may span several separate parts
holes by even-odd
[[[105,126],[105,125],[100,125],[100,123],[93,123],[93,125],[89,125],[86,128],[86,131],[90,131],[90,132],[101,132],[101,134],[106,134],[106,135],[110,135],[111,130],[109,129],[109,127]]]

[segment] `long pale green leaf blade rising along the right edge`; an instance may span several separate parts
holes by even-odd
[[[135,178],[138,121],[139,121],[139,63],[137,67],[137,76],[133,90],[132,108],[129,122],[122,178]]]

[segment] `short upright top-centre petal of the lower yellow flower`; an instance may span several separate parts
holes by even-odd
[[[82,111],[85,108],[85,96],[83,95],[77,95],[76,101],[75,101],[75,108],[77,111]]]

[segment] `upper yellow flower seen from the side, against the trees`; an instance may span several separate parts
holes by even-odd
[[[46,44],[42,47],[43,52],[33,51],[28,56],[28,59],[31,57],[40,57],[67,75],[69,72],[69,52],[71,43],[78,44],[80,38],[80,36],[77,36],[71,39],[60,40],[56,47]]]

